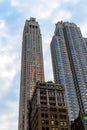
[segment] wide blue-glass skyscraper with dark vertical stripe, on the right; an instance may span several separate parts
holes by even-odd
[[[74,23],[58,22],[51,42],[51,55],[56,83],[66,88],[70,120],[79,108],[87,112],[87,48],[80,28]]]

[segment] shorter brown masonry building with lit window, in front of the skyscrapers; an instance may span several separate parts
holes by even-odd
[[[31,130],[70,130],[63,85],[36,84],[31,99],[30,126]]]

